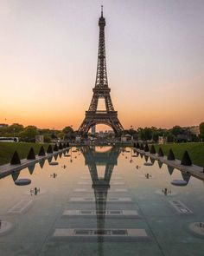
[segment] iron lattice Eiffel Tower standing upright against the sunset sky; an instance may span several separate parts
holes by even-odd
[[[99,17],[99,53],[95,87],[92,89],[92,101],[86,111],[84,121],[78,130],[79,134],[87,134],[88,130],[96,124],[102,123],[112,127],[116,135],[124,130],[118,120],[118,112],[114,110],[111,89],[108,87],[106,62],[105,62],[105,18],[103,16],[103,6],[101,6],[101,16]],[[105,100],[105,111],[97,110],[99,99]]]

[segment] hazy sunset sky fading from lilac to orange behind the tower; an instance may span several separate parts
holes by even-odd
[[[101,4],[124,128],[204,121],[203,0],[0,0],[0,122],[79,128],[95,82]]]

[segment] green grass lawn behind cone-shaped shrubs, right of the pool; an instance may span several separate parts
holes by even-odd
[[[192,162],[197,166],[204,167],[204,142],[155,144],[156,152],[159,147],[163,149],[163,154],[165,155],[169,153],[169,149],[171,148],[175,154],[175,158],[180,160],[182,160],[184,151],[187,150]]]

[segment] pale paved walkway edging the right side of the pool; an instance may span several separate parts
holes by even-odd
[[[157,154],[150,154],[150,152],[145,152],[144,150],[138,149],[138,148],[134,148],[134,150],[136,150],[138,153],[140,154],[144,154],[149,156],[152,159],[155,159],[157,161],[161,161],[165,164],[167,164],[169,167],[174,167],[182,172],[186,172],[191,174],[192,176],[204,181],[204,172],[203,172],[203,167],[199,167],[196,165],[192,165],[192,166],[183,166],[181,165],[181,161],[180,160],[168,160],[167,156],[158,156]]]

